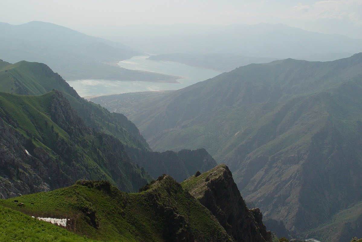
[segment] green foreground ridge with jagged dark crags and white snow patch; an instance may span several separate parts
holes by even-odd
[[[236,210],[227,211],[225,201],[209,198],[224,211],[214,216],[201,197],[190,195],[192,184],[192,191],[202,196],[206,177],[201,175],[180,185],[164,174],[138,193],[121,192],[108,181],[79,180],[70,187],[0,200],[0,226],[6,228],[0,238],[21,240],[26,232],[33,241],[54,241],[55,237],[56,241],[271,242],[260,211],[245,206],[228,168],[218,166],[206,175],[206,184],[212,184],[207,191],[214,194],[230,184],[223,194],[239,203]],[[224,222],[222,214],[232,217],[228,221],[233,226]],[[46,218],[61,222],[60,227],[74,234],[38,221]]]

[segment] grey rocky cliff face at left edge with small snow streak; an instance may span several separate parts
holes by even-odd
[[[69,186],[76,181],[75,172],[45,149],[26,150],[28,140],[13,127],[0,120],[0,198],[49,191]],[[77,174],[81,176],[82,173]]]

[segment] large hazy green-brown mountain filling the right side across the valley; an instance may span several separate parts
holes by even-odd
[[[286,59],[145,97],[125,114],[154,149],[204,147],[247,201],[306,235],[361,201],[361,93],[362,53]]]

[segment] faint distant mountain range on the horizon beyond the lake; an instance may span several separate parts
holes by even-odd
[[[151,54],[227,53],[327,61],[362,51],[362,39],[315,33],[282,24],[102,26],[83,31]],[[330,53],[339,54],[333,55],[335,59],[326,59]]]

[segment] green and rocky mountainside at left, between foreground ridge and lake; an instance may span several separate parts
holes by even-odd
[[[135,192],[165,171],[182,181],[216,165],[206,150],[152,152],[124,115],[79,97],[45,64],[0,61],[0,90],[2,198],[78,179],[105,179]],[[138,164],[160,169],[150,175]]]

